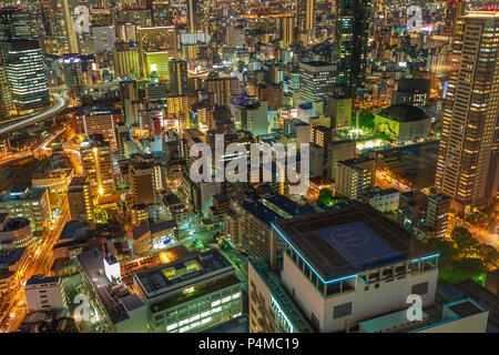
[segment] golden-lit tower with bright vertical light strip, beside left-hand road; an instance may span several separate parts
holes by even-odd
[[[93,197],[114,193],[113,163],[109,142],[102,134],[92,134],[80,145],[83,174],[89,178]]]

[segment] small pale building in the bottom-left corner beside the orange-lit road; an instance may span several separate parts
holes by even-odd
[[[26,283],[28,312],[45,308],[61,310],[64,304],[64,286],[59,276],[32,276]]]

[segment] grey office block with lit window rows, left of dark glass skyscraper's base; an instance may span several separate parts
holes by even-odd
[[[322,100],[334,93],[334,69],[333,64],[326,62],[299,63],[299,91],[303,102]]]

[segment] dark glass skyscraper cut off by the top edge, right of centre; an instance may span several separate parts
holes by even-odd
[[[350,95],[364,85],[371,1],[339,0],[337,3],[336,87]]]

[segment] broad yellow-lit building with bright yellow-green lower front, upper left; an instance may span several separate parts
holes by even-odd
[[[138,28],[141,74],[166,77],[170,58],[176,59],[175,27]]]

